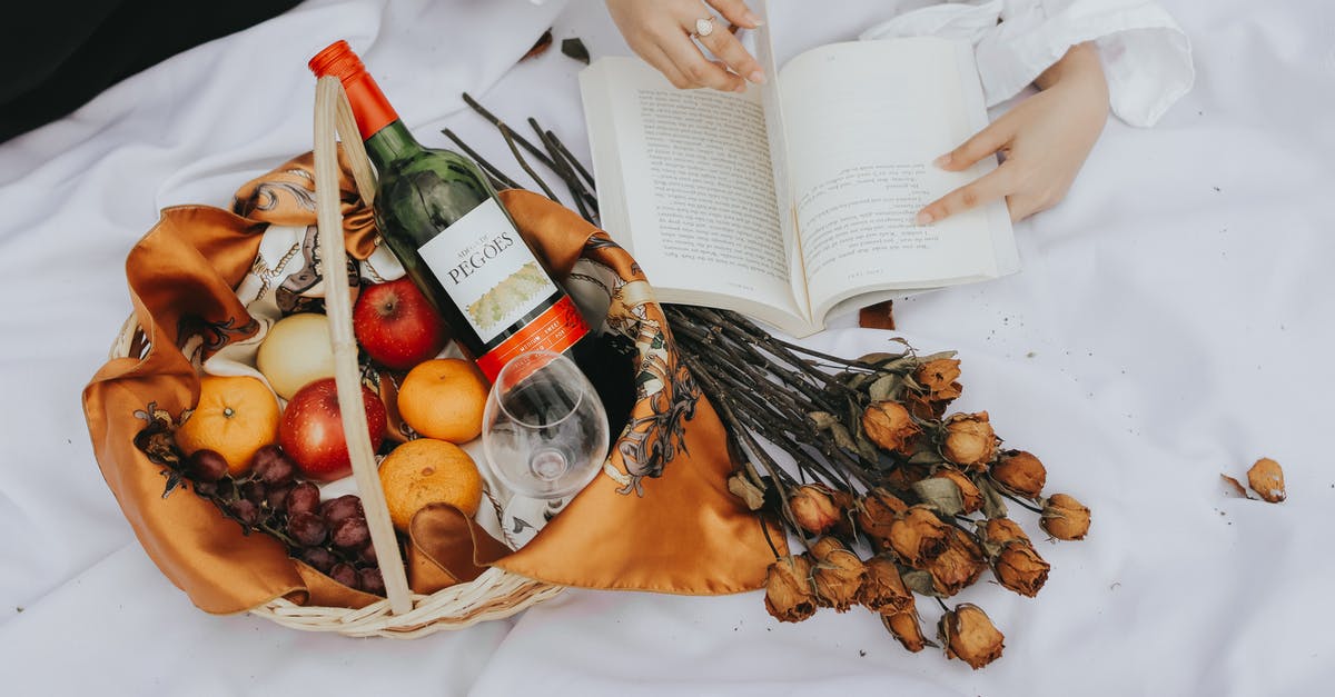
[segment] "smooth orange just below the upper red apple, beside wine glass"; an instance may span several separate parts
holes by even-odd
[[[399,415],[414,431],[465,443],[482,433],[487,381],[471,361],[435,358],[418,363],[399,386]]]

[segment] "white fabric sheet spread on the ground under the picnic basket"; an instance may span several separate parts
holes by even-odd
[[[470,89],[585,155],[579,65],[551,51],[509,69],[553,21],[558,41],[626,51],[601,3],[558,5],[312,1],[0,146],[0,690],[1328,693],[1326,0],[1165,1],[1191,36],[1195,89],[1153,130],[1109,120],[1067,200],[1017,226],[1023,272],[897,307],[918,348],[960,351],[959,406],[987,409],[1008,443],[1044,458],[1052,491],[1093,509],[1085,542],[1039,542],[1053,571],[1036,600],[992,584],[959,598],[1007,634],[992,666],[910,656],[865,612],[781,625],[758,593],[567,592],[511,621],[406,642],[194,609],[134,539],[79,409],[129,312],[125,252],[159,207],[226,206],[239,183],[310,148],[304,61],[338,37],[429,143],[443,144],[449,124],[505,159],[490,127],[458,111]],[[845,326],[809,344],[856,355],[885,336]],[[1242,475],[1263,455],[1284,465],[1288,501],[1230,497],[1219,473]]]

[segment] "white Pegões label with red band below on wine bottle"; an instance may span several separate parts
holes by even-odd
[[[482,343],[501,339],[485,355],[475,357],[487,379],[495,379],[522,353],[563,353],[589,332],[579,308],[561,292],[559,300],[502,336],[515,322],[550,302],[559,288],[494,199],[455,220],[418,254]]]

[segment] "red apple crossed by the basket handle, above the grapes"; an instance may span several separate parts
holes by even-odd
[[[362,402],[371,447],[379,449],[384,438],[384,402],[364,385]],[[307,479],[331,482],[352,473],[334,378],[311,382],[292,395],[278,426],[278,443]]]

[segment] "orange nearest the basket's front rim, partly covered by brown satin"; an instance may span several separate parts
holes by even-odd
[[[470,518],[482,503],[482,474],[473,458],[462,447],[434,438],[391,450],[380,462],[380,487],[390,521],[405,533],[427,503],[450,503]]]

